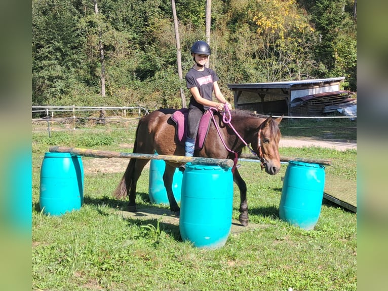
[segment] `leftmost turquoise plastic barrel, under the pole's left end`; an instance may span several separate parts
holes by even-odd
[[[80,156],[45,153],[39,204],[45,214],[79,210],[84,201],[84,167]]]

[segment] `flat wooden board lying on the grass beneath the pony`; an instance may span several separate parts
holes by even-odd
[[[120,215],[129,219],[138,219],[138,220],[159,220],[161,219],[162,223],[171,224],[179,226],[179,217],[171,213],[170,209],[157,207],[157,206],[147,206],[144,208],[137,209],[137,212],[121,211]],[[237,234],[243,231],[249,231],[253,229],[262,229],[267,228],[269,225],[259,225],[255,223],[249,223],[248,226],[244,227],[237,220],[232,220],[231,222],[231,234]]]

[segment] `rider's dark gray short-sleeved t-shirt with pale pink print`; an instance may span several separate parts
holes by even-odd
[[[188,89],[197,87],[202,98],[213,100],[213,83],[219,80],[214,70],[205,68],[203,71],[198,71],[195,68],[190,68],[185,78]],[[204,110],[209,109],[208,106],[198,103],[193,96],[190,97],[189,107],[191,106]]]

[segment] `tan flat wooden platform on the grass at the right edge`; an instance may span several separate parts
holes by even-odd
[[[357,182],[326,174],[323,197],[348,210],[357,212]]]

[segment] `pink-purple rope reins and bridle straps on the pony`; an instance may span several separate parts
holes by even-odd
[[[221,141],[222,141],[222,143],[223,143],[225,149],[226,149],[229,153],[235,154],[235,158],[234,158],[234,160],[233,160],[233,161],[234,161],[234,165],[233,165],[233,167],[232,167],[232,172],[235,172],[235,169],[236,169],[236,166],[237,166],[237,161],[238,161],[238,159],[239,159],[238,154],[237,154],[235,151],[232,151],[232,150],[230,150],[230,149],[227,147],[227,145],[226,145],[226,143],[225,143],[224,139],[222,138],[222,135],[221,135],[221,133],[220,133],[220,131],[219,131],[217,122],[216,122],[216,120],[215,120],[215,118],[214,118],[213,111],[217,111],[217,109],[214,108],[214,107],[210,107],[210,108],[209,108],[209,112],[210,112],[210,114],[211,114],[211,116],[212,116],[212,120],[213,120],[213,122],[214,122],[214,125],[215,125],[215,127],[216,127],[216,129],[217,129],[218,135],[219,135],[219,137],[221,138]],[[229,110],[229,108],[228,108],[227,106],[224,107],[224,110],[223,110],[223,112],[221,112],[221,115],[222,115],[222,122],[223,122],[224,124],[227,124],[227,125],[228,125],[228,126],[236,133],[236,135],[240,138],[240,140],[246,145],[246,147],[251,151],[251,153],[252,153],[254,156],[257,156],[257,153],[249,146],[249,144],[241,137],[241,135],[237,132],[237,130],[235,129],[235,127],[231,124],[231,113],[230,113],[230,110]],[[258,148],[258,149],[257,149],[257,151],[259,152],[258,159],[260,160],[260,167],[261,167],[261,170],[263,170],[263,169],[265,168],[264,164],[266,163],[266,160],[265,160],[265,158],[263,157],[263,153],[262,153],[262,150],[261,150],[261,129],[262,129],[262,125],[263,125],[263,123],[261,123],[261,124],[259,125],[259,132],[258,132],[258,134],[257,134],[257,138],[258,138],[258,142],[257,142],[257,148]]]

